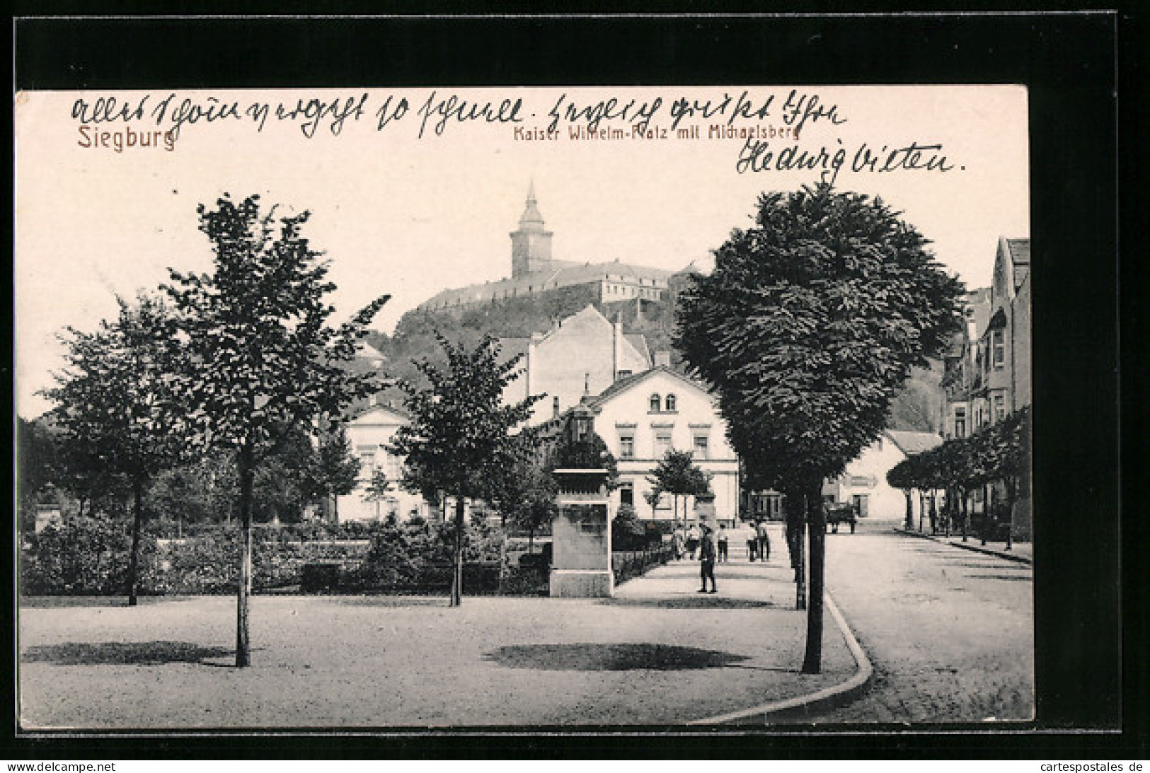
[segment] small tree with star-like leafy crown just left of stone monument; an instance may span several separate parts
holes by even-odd
[[[422,360],[417,368],[428,386],[400,385],[406,395],[404,405],[413,418],[396,432],[388,450],[406,459],[402,486],[407,490],[424,495],[444,492],[455,501],[450,604],[459,606],[466,501],[490,495],[503,471],[527,458],[537,446],[535,431],[516,432],[516,427],[530,418],[531,405],[542,395],[503,404],[504,387],[515,378],[520,357],[500,362],[499,343],[490,335],[474,349],[437,339],[446,363]]]

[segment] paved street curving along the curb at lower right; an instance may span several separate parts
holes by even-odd
[[[1029,565],[866,524],[827,536],[827,585],[875,677],[820,721],[1033,717]]]

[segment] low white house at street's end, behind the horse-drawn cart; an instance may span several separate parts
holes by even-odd
[[[853,504],[860,518],[902,523],[906,519],[906,497],[902,489],[887,482],[887,472],[907,456],[941,442],[942,438],[933,432],[887,430],[846,465],[842,476],[823,485],[823,500]],[[921,515],[919,497],[912,496],[911,503],[918,519]]]

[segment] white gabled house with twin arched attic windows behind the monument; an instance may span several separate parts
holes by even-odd
[[[672,497],[664,495],[652,510],[645,496],[656,465],[669,449],[689,450],[695,463],[711,473],[715,518],[738,517],[738,457],[727,442],[727,425],[715,399],[697,381],[667,366],[619,379],[586,401],[595,411],[595,431],[619,462],[620,487],[612,493],[612,511],[629,504],[643,519],[672,519]],[[680,497],[680,518],[695,518],[693,497]],[[685,508],[684,508],[685,504]]]

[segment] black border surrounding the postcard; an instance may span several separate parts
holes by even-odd
[[[37,11],[25,8],[25,13]],[[1033,324],[1040,725],[1098,729],[1121,722],[1122,733],[988,734],[977,728],[965,734],[810,736],[788,732],[724,735],[721,741],[713,734],[668,734],[654,742],[612,731],[593,741],[585,735],[538,733],[246,735],[223,741],[53,737],[14,739],[10,748],[40,759],[1110,758],[1122,752],[1144,759],[1144,696],[1150,693],[1142,664],[1145,574],[1134,569],[1141,551],[1130,532],[1121,551],[1129,580],[1125,691],[1119,668],[1119,22],[1112,13],[16,21],[17,88],[1025,84],[1030,100],[1032,237],[1037,256]],[[1125,377],[1133,381],[1127,388],[1142,386],[1134,381],[1136,376]],[[6,682],[8,689],[12,685]],[[13,705],[10,694],[5,698],[7,709]]]

